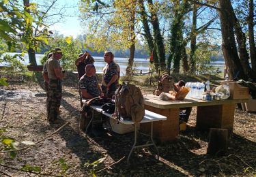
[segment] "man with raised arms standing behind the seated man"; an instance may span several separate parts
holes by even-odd
[[[88,52],[79,54],[79,58],[75,61],[79,79],[85,74],[85,66],[93,63],[94,58]]]

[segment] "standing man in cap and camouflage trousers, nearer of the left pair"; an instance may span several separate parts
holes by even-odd
[[[47,106],[47,119],[50,123],[54,123],[57,120],[57,114],[61,105],[62,85],[61,80],[66,75],[62,73],[59,65],[59,60],[62,57],[61,48],[55,48],[53,50],[53,56],[49,58],[45,65],[48,72],[48,100]]]

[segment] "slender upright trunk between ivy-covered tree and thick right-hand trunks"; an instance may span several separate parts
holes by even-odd
[[[192,22],[192,29],[191,29],[191,42],[190,42],[190,72],[195,74],[196,71],[196,61],[194,58],[195,50],[197,49],[197,4],[194,3],[193,5],[193,22]]]

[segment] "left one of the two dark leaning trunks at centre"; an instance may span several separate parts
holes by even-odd
[[[139,0],[139,7],[141,9],[140,13],[141,13],[141,19],[142,19],[143,29],[144,29],[144,33],[145,33],[145,39],[147,41],[147,46],[149,48],[150,54],[153,50],[154,66],[156,68],[156,71],[158,71],[159,60],[158,60],[156,48],[154,48],[153,37],[150,33],[150,26],[148,25],[148,21],[147,21],[147,18],[146,18],[147,14],[145,12],[145,6],[144,6],[144,3],[143,3],[143,0]]]

